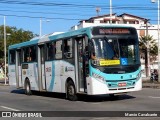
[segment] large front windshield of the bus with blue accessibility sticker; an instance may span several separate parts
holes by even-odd
[[[92,53],[97,60],[119,60],[121,65],[140,64],[138,40],[135,38],[102,37],[94,38],[92,42]]]

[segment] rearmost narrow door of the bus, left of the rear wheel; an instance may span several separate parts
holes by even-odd
[[[22,66],[21,66],[21,49],[16,51],[16,80],[17,88],[22,87]]]

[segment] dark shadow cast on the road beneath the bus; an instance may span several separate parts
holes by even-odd
[[[11,93],[16,94],[25,94],[24,90],[12,90]],[[52,92],[38,92],[32,91],[32,95],[42,96],[42,97],[51,97],[58,99],[66,99],[66,95],[64,93],[52,93]],[[78,95],[78,101],[82,102],[105,102],[105,101],[120,101],[126,99],[134,99],[134,96],[130,96],[127,94],[122,95]]]

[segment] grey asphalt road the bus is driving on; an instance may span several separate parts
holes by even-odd
[[[34,92],[33,95],[27,96],[23,90],[11,90],[9,86],[0,86],[0,111],[160,111],[160,89],[144,88],[142,91],[120,95],[114,99],[105,95],[79,97],[80,99],[74,102],[66,100],[64,94]],[[91,116],[76,119],[106,118]],[[110,119],[119,120],[118,117]],[[132,117],[125,119],[130,120]],[[156,119],[159,118],[154,117],[154,120]]]

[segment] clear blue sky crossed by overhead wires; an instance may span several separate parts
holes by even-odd
[[[109,14],[110,0],[0,0],[0,25],[29,30],[40,33],[42,19],[42,35],[53,32],[65,32],[80,20]],[[158,3],[151,0],[112,0],[112,11],[117,15],[123,13],[150,19],[157,24]],[[48,21],[48,22],[47,22]]]

